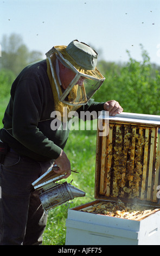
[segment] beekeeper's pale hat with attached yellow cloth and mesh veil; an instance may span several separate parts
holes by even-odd
[[[76,111],[85,105],[105,80],[96,68],[97,52],[78,40],[72,41],[68,46],[55,46],[46,53],[46,56],[48,75],[49,69],[52,74],[52,89],[56,88],[58,97],[56,102],[58,100],[59,105],[62,102],[61,106],[72,106],[69,107],[70,111]],[[59,62],[75,74],[65,90],[59,77]]]

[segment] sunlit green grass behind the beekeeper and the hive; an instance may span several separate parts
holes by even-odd
[[[3,126],[2,118],[8,100],[0,102],[0,129]],[[97,125],[96,120],[93,125],[94,127]],[[71,161],[72,169],[79,173],[72,173],[67,182],[73,179],[72,185],[86,192],[86,197],[75,198],[70,208],[94,200],[95,145],[96,130],[73,130],[69,134],[65,152]],[[66,218],[67,210],[63,205],[49,211],[43,245],[65,245]]]

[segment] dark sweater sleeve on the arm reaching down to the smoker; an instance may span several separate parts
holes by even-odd
[[[19,82],[13,104],[12,134],[26,148],[37,154],[56,159],[61,148],[50,141],[37,127],[43,108],[43,88],[40,81]]]

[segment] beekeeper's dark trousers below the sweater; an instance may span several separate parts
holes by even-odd
[[[7,153],[0,164],[0,245],[41,245],[46,227],[39,195],[31,185],[52,166]]]

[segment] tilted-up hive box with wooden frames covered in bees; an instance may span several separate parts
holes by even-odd
[[[95,198],[160,206],[160,117],[123,113],[99,119],[109,130],[105,136],[97,132]]]

